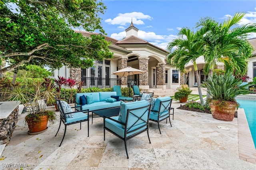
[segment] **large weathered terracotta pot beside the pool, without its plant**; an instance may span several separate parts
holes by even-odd
[[[212,117],[220,121],[233,121],[236,111],[236,101],[214,101],[210,102]]]

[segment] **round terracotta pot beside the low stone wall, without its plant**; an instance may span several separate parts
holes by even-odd
[[[46,130],[48,124],[48,116],[40,116],[40,121],[33,121],[33,118],[26,118],[29,132],[40,132]]]

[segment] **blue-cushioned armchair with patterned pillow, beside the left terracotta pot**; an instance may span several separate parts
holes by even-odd
[[[61,123],[65,125],[64,135],[60,142],[60,145],[64,140],[67,126],[75,123],[80,123],[80,130],[81,130],[81,123],[84,121],[88,121],[87,126],[88,126],[88,137],[89,137],[89,109],[82,110],[82,107],[79,106],[81,111],[72,111],[72,108],[75,108],[75,107],[70,107],[70,105],[68,105],[66,101],[60,101],[60,100],[56,100],[56,104],[60,111],[60,125]],[[58,134],[59,130],[60,130],[60,126],[58,128],[56,135]]]

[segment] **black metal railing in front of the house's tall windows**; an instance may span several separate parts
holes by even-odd
[[[82,81],[84,81],[83,88],[89,87],[97,87],[100,89],[103,88],[110,88],[115,85],[120,85],[120,79],[113,79],[113,78],[101,78],[101,77],[82,77]]]

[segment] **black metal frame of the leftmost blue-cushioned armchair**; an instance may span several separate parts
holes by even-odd
[[[58,102],[57,102],[57,101],[58,101]],[[62,142],[63,142],[63,140],[64,140],[64,137],[65,137],[65,134],[66,134],[66,128],[67,128],[68,125],[73,125],[73,124],[76,124],[76,123],[80,123],[80,130],[81,130],[81,123],[82,123],[82,122],[85,122],[85,121],[88,121],[87,126],[88,126],[88,137],[89,137],[89,109],[87,109],[87,110],[82,110],[82,106],[77,106],[77,107],[80,107],[80,110],[82,110],[82,111],[74,111],[74,112],[64,113],[64,110],[63,110],[63,107],[62,107],[62,105],[61,105],[61,103],[60,103],[60,100],[56,100],[56,104],[57,104],[57,107],[58,107],[58,109],[59,109],[59,111],[60,111],[60,125],[61,125],[61,122],[65,125],[64,135],[63,135],[63,138],[62,138],[62,140],[61,140],[61,142],[60,142],[60,145],[62,144]],[[76,107],[71,107],[71,108],[76,108]],[[65,115],[68,115],[68,114],[70,114],[70,113],[76,114],[76,113],[78,113],[78,112],[83,112],[83,113],[86,113],[86,112],[87,112],[87,115],[88,115],[87,119],[83,119],[83,120],[75,121],[75,122],[71,122],[71,123],[66,123],[66,116],[65,116]],[[64,113],[64,115],[63,115],[62,113]],[[55,134],[55,136],[57,136],[59,130],[60,130],[60,126],[59,126],[58,131],[57,131],[57,133]],[[60,147],[60,146],[59,146],[59,147]]]

